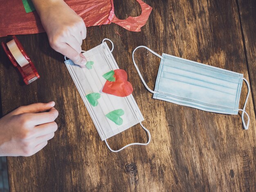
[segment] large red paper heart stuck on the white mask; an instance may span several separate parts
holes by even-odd
[[[115,81],[109,81],[107,80],[102,92],[119,96],[119,97],[126,97],[133,92],[132,84],[130,84],[129,81],[127,81],[127,73],[124,69],[116,69],[115,74],[113,77],[115,77]]]

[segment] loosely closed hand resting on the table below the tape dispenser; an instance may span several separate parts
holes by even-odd
[[[58,128],[54,105],[21,106],[0,118],[0,156],[31,156],[43,149]]]

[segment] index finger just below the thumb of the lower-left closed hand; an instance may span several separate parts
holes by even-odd
[[[58,111],[52,107],[49,112],[28,113],[27,116],[29,116],[29,124],[41,125],[53,122],[58,116]]]

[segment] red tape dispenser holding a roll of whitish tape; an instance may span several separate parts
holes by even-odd
[[[20,74],[27,85],[40,78],[38,72],[36,71],[36,67],[27,56],[24,48],[16,36],[13,36],[13,40],[7,42],[6,44],[2,42],[2,47],[11,60],[11,63],[20,71]]]

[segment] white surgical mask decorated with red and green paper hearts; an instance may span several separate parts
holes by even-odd
[[[147,145],[150,142],[150,132],[141,121],[144,118],[132,96],[132,85],[127,80],[127,73],[119,69],[112,55],[113,42],[110,51],[103,39],[101,45],[83,55],[88,60],[86,67],[75,65],[72,60],[66,60],[65,65],[76,88],[81,95],[92,121],[107,147],[112,152],[118,152],[130,145]],[[119,150],[112,150],[107,139],[123,132],[139,123],[148,134],[147,143],[131,143]]]

